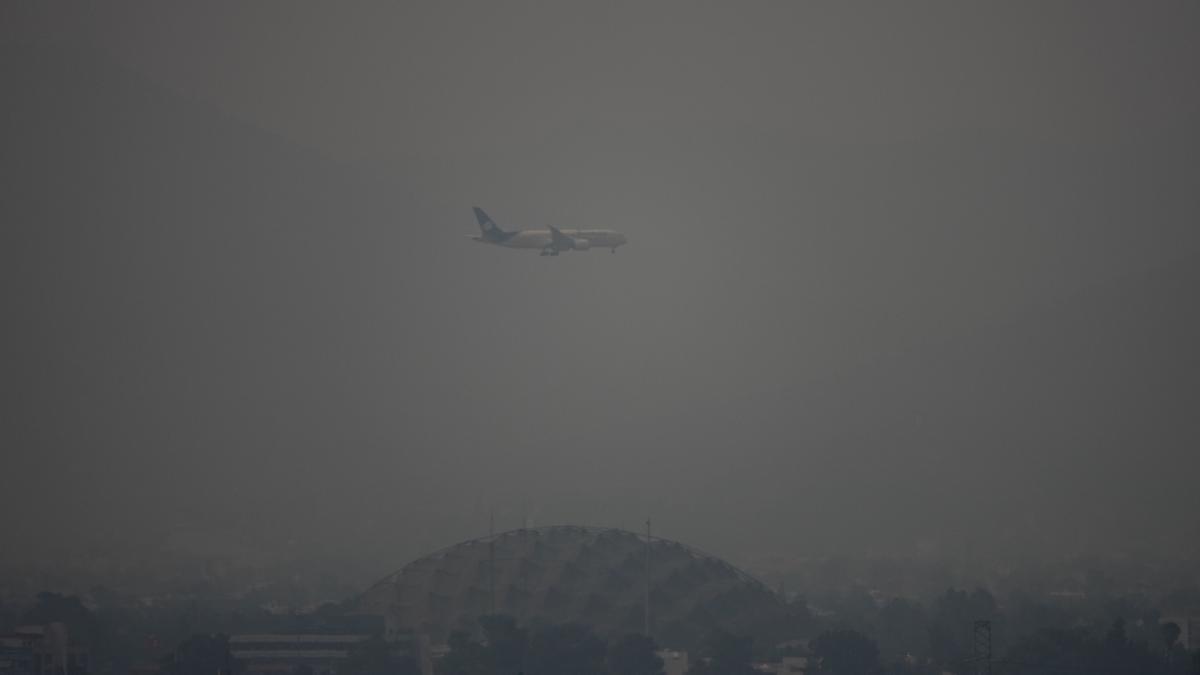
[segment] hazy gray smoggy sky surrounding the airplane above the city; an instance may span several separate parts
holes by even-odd
[[[386,569],[491,509],[736,561],[1200,540],[1195,4],[30,5],[0,36],[30,551],[215,530]],[[485,247],[472,205],[630,244]]]

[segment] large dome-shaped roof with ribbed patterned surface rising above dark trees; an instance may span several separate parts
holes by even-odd
[[[696,549],[575,526],[512,530],[418,558],[367,590],[358,611],[434,640],[474,631],[476,619],[492,613],[526,625],[574,621],[602,634],[641,632],[647,578],[652,628],[665,644],[784,611],[760,581]]]

